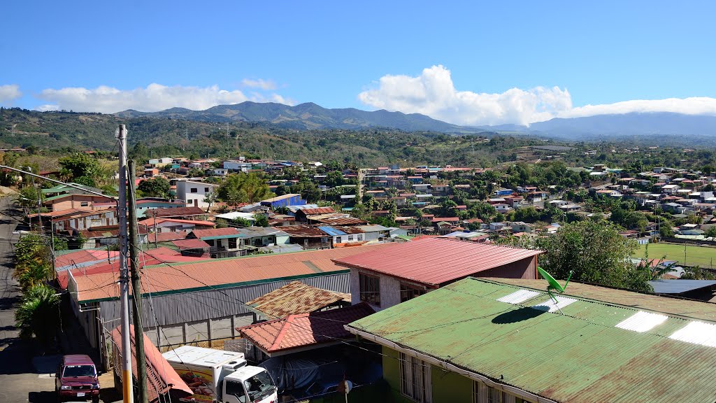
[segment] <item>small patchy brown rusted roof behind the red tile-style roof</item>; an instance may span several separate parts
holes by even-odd
[[[248,301],[247,304],[269,318],[285,318],[298,313],[314,312],[346,299],[350,300],[350,295],[292,281],[271,293]]]

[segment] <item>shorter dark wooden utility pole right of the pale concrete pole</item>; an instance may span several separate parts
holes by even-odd
[[[135,201],[135,161],[129,161],[130,180],[127,188],[130,189],[129,207],[127,215],[130,218],[130,271],[132,273],[132,298],[135,305],[132,310],[132,319],[135,325],[135,356],[137,357],[137,387],[139,403],[147,403],[147,357],[144,353],[144,328],[142,328],[142,287],[139,278],[139,234],[137,234],[137,202]]]

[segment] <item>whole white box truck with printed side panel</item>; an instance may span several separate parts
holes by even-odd
[[[243,353],[181,346],[162,354],[194,393],[183,402],[276,403],[271,375]]]

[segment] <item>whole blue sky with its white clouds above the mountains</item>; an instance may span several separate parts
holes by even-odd
[[[11,1],[0,104],[314,102],[459,124],[716,115],[715,11],[713,1]]]

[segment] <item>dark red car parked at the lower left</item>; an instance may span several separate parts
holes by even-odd
[[[54,389],[60,402],[69,399],[100,402],[100,381],[95,363],[84,354],[63,356],[55,374]]]

